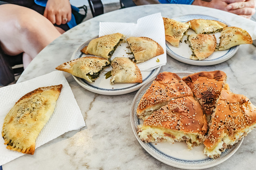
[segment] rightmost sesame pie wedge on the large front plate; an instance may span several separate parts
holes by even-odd
[[[218,158],[256,127],[256,107],[243,95],[223,89],[212,115],[204,154]]]

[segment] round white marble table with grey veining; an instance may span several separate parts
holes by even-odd
[[[83,22],[54,40],[31,62],[18,82],[50,73],[70,60],[73,52],[86,40],[97,36],[99,22],[136,22],[138,18],[161,12],[173,18],[186,14],[207,14],[230,25],[254,28],[256,22],[238,15],[193,5],[146,5],[125,8]],[[162,71],[199,72],[222,70],[228,75],[230,89],[243,94],[256,105],[256,47],[241,45],[228,61],[212,66],[194,66],[167,56]],[[126,95],[104,96],[87,91],[65,74],[86,127],[61,135],[25,155],[3,165],[3,169],[178,169],[150,156],[135,138],[130,123],[130,106],[137,91]],[[256,130],[226,162],[209,169],[254,169]]]

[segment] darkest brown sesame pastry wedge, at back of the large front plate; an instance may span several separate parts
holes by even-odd
[[[221,89],[229,89],[226,79],[226,73],[218,70],[198,72],[182,78],[202,105],[208,121],[210,121],[215,109],[216,100],[219,98]]]

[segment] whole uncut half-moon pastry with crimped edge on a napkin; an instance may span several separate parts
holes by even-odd
[[[7,149],[34,154],[38,134],[51,117],[62,84],[35,89],[21,97],[4,119],[2,137]]]

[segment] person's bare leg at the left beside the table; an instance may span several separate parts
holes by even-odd
[[[25,67],[44,47],[61,35],[43,15],[13,4],[0,5],[0,23],[0,45],[4,53],[25,53]]]

